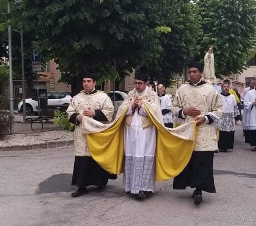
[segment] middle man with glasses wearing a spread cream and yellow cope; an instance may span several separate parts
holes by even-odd
[[[148,76],[136,71],[134,90],[120,105],[111,124],[83,117],[81,131],[92,158],[113,174],[124,172],[124,189],[137,198],[154,191],[155,181],[178,175],[191,158],[196,122],[164,127],[160,101],[146,86]]]

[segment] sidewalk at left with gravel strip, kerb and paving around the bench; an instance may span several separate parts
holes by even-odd
[[[33,124],[35,131],[32,131],[30,123],[23,123],[22,121],[23,115],[15,112],[14,134],[7,135],[4,140],[0,140],[0,151],[45,149],[73,145],[73,132],[64,131],[59,125],[54,125],[51,122],[44,123],[44,128],[40,131],[40,123],[35,123]]]

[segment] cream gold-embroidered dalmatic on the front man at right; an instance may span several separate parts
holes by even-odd
[[[212,86],[207,83],[199,86],[185,84],[177,90],[172,106],[176,118],[182,109],[191,107],[200,110],[200,116],[209,115],[213,122],[197,127],[195,151],[218,149],[217,128],[222,116],[222,104],[220,95]],[[193,117],[186,115],[185,118],[178,119],[178,124],[183,125],[192,120],[194,120]]]

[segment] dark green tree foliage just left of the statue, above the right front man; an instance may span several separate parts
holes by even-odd
[[[166,1],[161,10],[165,26],[172,32],[160,36],[163,51],[156,62],[149,65],[156,78],[168,86],[174,72],[182,73],[188,58],[199,53],[197,41],[202,37],[200,16],[195,14],[197,5],[190,0]]]

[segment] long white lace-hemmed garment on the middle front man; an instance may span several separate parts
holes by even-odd
[[[155,188],[156,127],[143,129],[142,115],[147,115],[143,107],[140,113],[135,111],[131,125],[125,124],[124,129],[124,187],[132,194]]]

